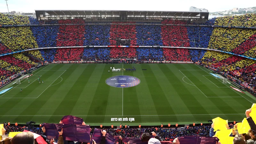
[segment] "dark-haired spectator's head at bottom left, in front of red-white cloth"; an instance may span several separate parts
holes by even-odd
[[[34,136],[30,132],[21,132],[12,138],[12,144],[34,144]]]

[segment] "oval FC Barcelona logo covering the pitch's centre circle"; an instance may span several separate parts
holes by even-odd
[[[133,87],[140,84],[140,79],[134,76],[112,76],[106,79],[106,84],[113,87]]]

